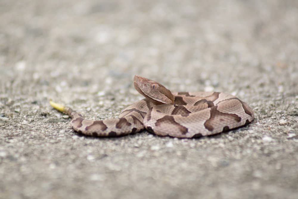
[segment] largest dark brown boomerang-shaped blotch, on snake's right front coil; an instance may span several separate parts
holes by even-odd
[[[204,126],[206,129],[208,129],[209,131],[213,131],[213,125],[215,122],[215,119],[217,116],[224,116],[224,117],[228,117],[231,120],[235,120],[236,122],[240,122],[241,118],[234,114],[234,113],[223,113],[220,112],[219,110],[217,110],[217,106],[211,107],[210,109],[210,118],[208,120],[206,120],[206,122],[204,123]]]

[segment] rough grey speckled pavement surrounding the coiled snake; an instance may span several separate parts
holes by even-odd
[[[297,198],[297,1],[0,1],[0,198]],[[199,139],[94,138],[134,74],[255,112]]]

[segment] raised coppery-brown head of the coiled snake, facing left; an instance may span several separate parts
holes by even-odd
[[[134,87],[145,98],[156,104],[174,104],[175,97],[172,92],[156,81],[135,75]]]

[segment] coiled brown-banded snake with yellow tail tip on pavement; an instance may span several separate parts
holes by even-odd
[[[99,137],[149,132],[177,138],[199,138],[249,124],[252,109],[224,92],[171,92],[162,84],[134,76],[134,87],[145,98],[125,108],[118,118],[87,120],[70,107],[50,105],[71,117],[78,133]]]

